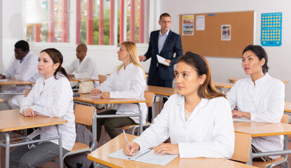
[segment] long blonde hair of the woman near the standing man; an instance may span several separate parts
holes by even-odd
[[[130,63],[133,63],[135,66],[140,66],[140,68],[142,69],[142,71],[144,72],[144,69],[142,68],[142,65],[140,64],[140,59],[138,58],[138,54],[137,54],[137,45],[135,45],[135,43],[131,42],[131,41],[123,41],[123,43],[121,43],[121,45],[123,45],[126,50],[128,50],[130,56]],[[119,73],[119,70],[121,69],[121,67],[123,66],[123,64],[121,64],[119,66],[119,68],[117,69],[117,73]],[[145,77],[145,73],[144,73],[144,77]]]

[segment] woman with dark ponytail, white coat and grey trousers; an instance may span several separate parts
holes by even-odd
[[[67,120],[60,125],[62,152],[71,151],[76,140],[73,92],[62,68],[62,54],[55,48],[42,50],[37,65],[41,78],[27,97],[22,99],[20,113],[25,117],[48,116]],[[44,139],[57,136],[55,125],[39,127],[28,136],[30,139]],[[36,146],[18,146],[10,153],[11,167],[40,167],[59,155],[58,140],[46,141]]]

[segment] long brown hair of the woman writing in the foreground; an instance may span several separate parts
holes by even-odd
[[[184,62],[192,66],[198,76],[206,75],[204,83],[198,88],[198,96],[205,99],[213,99],[215,97],[224,97],[225,94],[219,92],[212,82],[211,69],[207,60],[201,55],[196,55],[193,52],[187,52],[185,55],[178,57],[177,63]]]

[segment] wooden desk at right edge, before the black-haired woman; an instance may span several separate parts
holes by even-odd
[[[285,146],[288,148],[288,134],[291,134],[291,125],[285,123],[260,123],[260,122],[249,122],[249,123],[234,123],[234,131],[241,132],[244,134],[250,134],[251,137],[266,137],[284,135]],[[276,155],[288,155],[291,154],[291,150],[283,151],[270,151],[262,153],[250,153],[250,158],[257,158],[261,156],[269,156],[272,154]],[[247,164],[252,165],[252,160]]]

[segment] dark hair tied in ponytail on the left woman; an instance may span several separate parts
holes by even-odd
[[[66,70],[62,67],[62,53],[55,49],[55,48],[46,48],[42,50],[41,52],[46,52],[48,56],[50,56],[51,59],[53,59],[53,63],[60,63],[60,65],[55,69],[55,73],[53,73],[53,76],[55,79],[57,79],[57,72],[60,72],[60,75],[65,76],[69,79],[69,76],[66,72]]]

